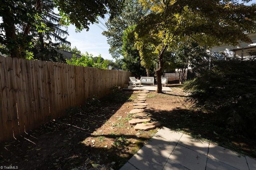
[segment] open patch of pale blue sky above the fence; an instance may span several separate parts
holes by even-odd
[[[100,18],[100,21],[105,24],[107,18]],[[102,58],[115,61],[108,52],[110,46],[107,43],[107,38],[102,35],[103,29],[107,30],[102,23],[91,24],[89,31],[83,30],[78,33],[76,33],[74,25],[69,25],[67,40],[71,43],[72,48],[76,47],[81,53],[88,52],[94,57],[101,54]]]

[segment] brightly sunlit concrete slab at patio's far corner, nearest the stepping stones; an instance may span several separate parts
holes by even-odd
[[[160,136],[164,139],[167,139],[171,142],[176,142],[180,140],[182,137],[183,133],[172,131],[171,129],[168,129],[167,127],[162,127],[157,133],[156,136]]]

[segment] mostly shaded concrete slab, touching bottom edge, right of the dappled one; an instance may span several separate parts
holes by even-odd
[[[169,159],[190,170],[204,170],[206,167],[207,156],[186,147],[182,147],[181,145],[177,145]]]

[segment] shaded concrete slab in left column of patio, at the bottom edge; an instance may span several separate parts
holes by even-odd
[[[128,162],[139,170],[161,170],[168,158],[147,148],[142,147]]]

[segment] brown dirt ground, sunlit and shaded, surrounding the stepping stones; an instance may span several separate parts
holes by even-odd
[[[150,92],[146,113],[162,126],[188,133],[256,157],[256,143],[217,127],[209,113],[195,109],[178,85],[173,92]],[[115,90],[115,89],[114,89]],[[128,120],[132,100],[140,91],[114,92],[82,107],[70,107],[64,117],[0,144],[0,166],[24,170],[118,170],[161,128],[135,131]]]

